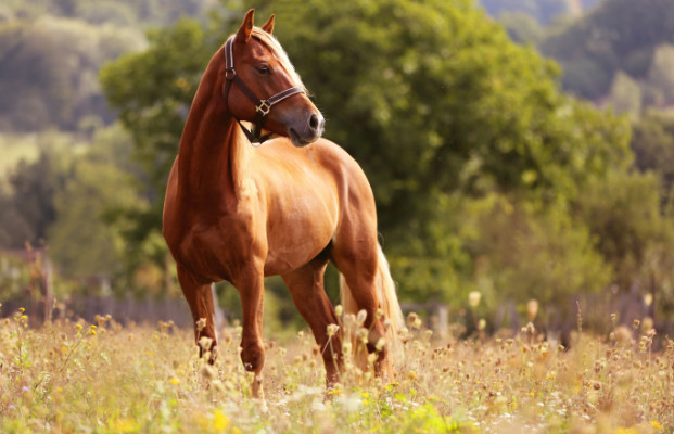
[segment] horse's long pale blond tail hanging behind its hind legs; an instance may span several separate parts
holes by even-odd
[[[386,349],[390,360],[399,361],[403,358],[403,343],[399,337],[399,331],[405,326],[403,310],[395,293],[395,283],[391,277],[389,261],[384,256],[381,245],[378,245],[377,253],[377,277],[374,279],[377,296],[379,298],[379,307],[383,312],[384,327],[386,330]],[[358,306],[353,297],[351,289],[346,284],[346,279],[340,275],[340,292],[342,298],[342,307],[345,314],[358,312]],[[358,365],[363,363],[363,359],[357,360]]]

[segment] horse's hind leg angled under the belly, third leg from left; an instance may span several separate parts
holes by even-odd
[[[330,387],[340,379],[342,343],[339,333],[328,336],[328,326],[340,322],[323,289],[327,265],[328,258],[321,255],[304,267],[281,277],[320,347],[326,365],[326,382]]]

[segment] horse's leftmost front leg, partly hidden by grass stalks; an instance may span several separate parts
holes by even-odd
[[[199,345],[199,354],[203,356],[204,348],[200,345],[202,337],[211,339],[211,357],[208,362],[213,363],[216,358],[215,346],[217,340],[215,336],[215,310],[213,306],[213,292],[211,283],[200,282],[185,267],[178,264],[178,281],[185,294],[185,298],[190,305],[192,320],[194,323],[194,336]]]

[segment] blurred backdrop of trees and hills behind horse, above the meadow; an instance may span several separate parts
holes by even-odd
[[[563,337],[578,308],[674,332],[674,0],[4,0],[2,316],[189,324],[164,188],[251,7],[368,175],[406,310],[462,336]],[[266,284],[267,330],[304,327]]]

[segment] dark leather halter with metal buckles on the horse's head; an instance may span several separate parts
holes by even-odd
[[[236,84],[237,86],[239,86],[239,89],[241,89],[241,91],[249,98],[249,100],[251,100],[253,104],[255,104],[255,113],[257,114],[257,117],[255,118],[255,128],[252,131],[245,128],[237,116],[234,116],[233,114],[232,116],[234,119],[237,119],[237,122],[239,123],[239,126],[241,127],[245,136],[249,138],[251,143],[262,144],[265,140],[269,139],[269,137],[271,136],[271,133],[262,136],[262,130],[265,124],[265,116],[269,114],[269,112],[271,111],[271,106],[275,104],[278,104],[284,99],[290,98],[296,93],[305,93],[305,92],[304,92],[304,89],[295,86],[290,89],[285,89],[281,92],[278,92],[277,94],[271,95],[267,98],[266,100],[257,98],[255,92],[253,92],[247,86],[245,86],[245,84],[239,77],[239,75],[237,74],[237,71],[234,69],[234,55],[232,51],[232,46],[233,46],[233,41],[236,37],[237,37],[236,35],[232,35],[229,37],[229,39],[227,39],[227,42],[225,42],[225,67],[226,67],[225,77],[227,78],[227,82],[225,84],[225,90],[222,91],[222,97],[225,98],[225,105],[227,106],[227,111],[231,114],[231,111],[229,110],[228,97],[229,97],[229,89],[231,88],[231,85]]]

